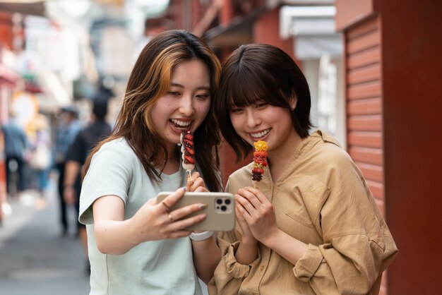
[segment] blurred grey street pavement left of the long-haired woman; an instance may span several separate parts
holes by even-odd
[[[43,200],[35,191],[9,199],[12,212],[0,227],[0,294],[88,294],[80,241],[73,230],[61,236],[55,188],[52,181]]]

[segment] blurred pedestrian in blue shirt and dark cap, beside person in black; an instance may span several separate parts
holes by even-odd
[[[62,107],[59,118],[59,126],[56,129],[55,145],[54,145],[54,162],[55,168],[59,172],[58,193],[59,193],[59,214],[61,234],[66,236],[69,229],[67,206],[64,200],[64,169],[66,167],[66,155],[69,146],[76,138],[80,131],[80,122],[78,121],[78,112],[73,106]],[[77,221],[75,224],[77,224]]]

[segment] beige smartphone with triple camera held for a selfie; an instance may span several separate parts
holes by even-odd
[[[157,203],[162,202],[173,192],[163,191],[157,195]],[[207,204],[205,209],[187,215],[184,218],[205,213],[207,217],[202,222],[187,228],[190,231],[230,231],[235,226],[235,200],[232,193],[184,193],[170,211],[195,203]]]

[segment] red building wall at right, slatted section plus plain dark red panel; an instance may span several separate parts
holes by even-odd
[[[336,0],[335,6],[348,51],[349,151],[375,195],[383,195],[386,222],[399,248],[386,291],[440,294],[442,1]],[[359,57],[367,65],[353,70],[357,39],[365,44]],[[376,179],[383,181],[378,191]]]

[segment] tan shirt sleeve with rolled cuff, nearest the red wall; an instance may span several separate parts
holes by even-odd
[[[327,175],[328,196],[314,220],[323,244],[309,244],[294,275],[316,294],[371,294],[398,249],[350,157],[334,159]]]

